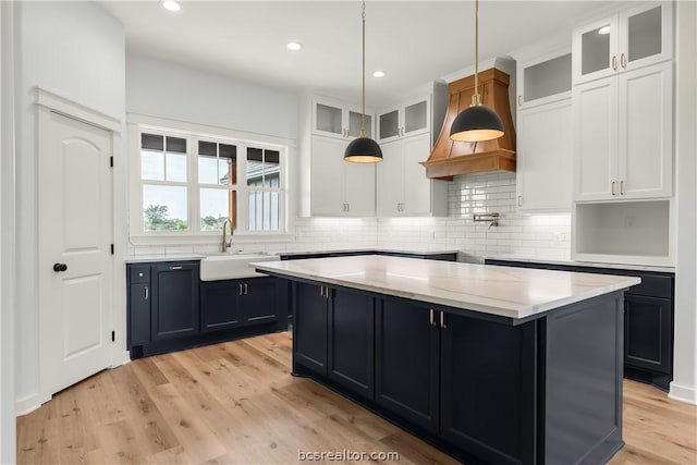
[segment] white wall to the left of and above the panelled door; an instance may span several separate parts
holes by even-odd
[[[16,2],[16,397],[17,413],[36,406],[38,379],[35,87],[123,121],[123,26],[91,2]],[[119,156],[119,154],[115,154]]]

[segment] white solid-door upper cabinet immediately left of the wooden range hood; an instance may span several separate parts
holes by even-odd
[[[377,164],[376,208],[379,216],[444,216],[448,183],[426,178],[419,161],[431,151],[429,134],[382,144]]]

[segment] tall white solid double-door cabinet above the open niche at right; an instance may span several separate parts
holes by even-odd
[[[574,87],[578,201],[672,195],[672,62]]]

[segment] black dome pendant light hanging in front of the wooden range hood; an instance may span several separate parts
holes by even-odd
[[[450,126],[450,138],[456,142],[481,142],[503,135],[503,122],[496,111],[481,105],[479,95],[479,0],[475,0],[475,94],[472,105]]]

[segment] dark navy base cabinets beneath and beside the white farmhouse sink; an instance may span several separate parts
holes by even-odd
[[[288,283],[200,281],[198,261],[127,266],[132,359],[288,329]]]

